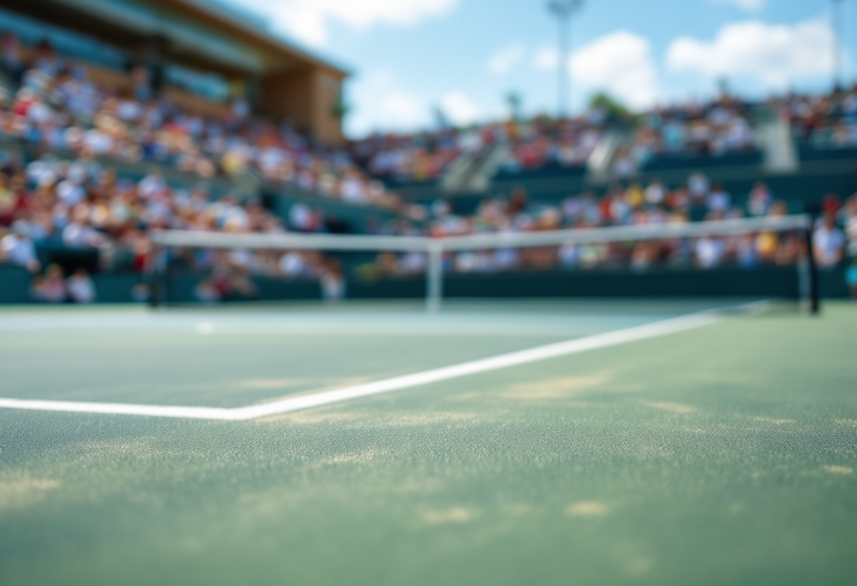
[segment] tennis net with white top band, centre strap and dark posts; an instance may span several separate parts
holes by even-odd
[[[806,215],[498,232],[352,236],[162,230],[152,302],[424,296],[764,296],[818,308]]]

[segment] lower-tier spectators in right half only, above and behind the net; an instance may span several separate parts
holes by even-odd
[[[788,213],[788,205],[776,200],[764,182],[757,182],[741,199],[740,202],[734,200],[722,186],[711,184],[700,173],[692,175],[686,185],[675,188],[668,188],[660,181],[646,186],[616,185],[600,197],[586,191],[556,205],[530,202],[525,192],[518,190],[508,199],[482,200],[472,215],[454,214],[446,202],[437,201],[428,233],[444,237],[486,232],[686,224],[695,219],[781,217]],[[835,195],[825,199],[824,213],[814,230],[813,242],[815,258],[823,268],[837,266],[847,254],[857,257],[857,194],[844,206]],[[472,250],[447,254],[446,270],[498,272],[630,267],[644,271],[656,265],[753,268],[761,264],[793,265],[805,254],[806,242],[800,234],[764,230],[725,237]],[[409,274],[422,272],[424,266],[421,255],[381,254],[368,272]]]

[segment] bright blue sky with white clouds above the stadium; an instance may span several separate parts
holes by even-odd
[[[236,2],[237,0],[226,0]],[[556,23],[542,0],[241,0],[273,30],[354,72],[346,132],[556,110]],[[849,80],[857,0],[843,0]],[[830,87],[830,0],[584,0],[572,22],[572,111],[606,90],[643,108],[704,99],[717,80],[760,97]]]

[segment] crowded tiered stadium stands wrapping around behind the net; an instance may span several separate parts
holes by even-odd
[[[444,237],[814,212],[824,216],[819,248],[834,251],[819,257],[821,264],[844,270],[846,235],[857,254],[854,197],[835,203],[857,191],[857,87],[756,105],[723,95],[640,114],[596,104],[570,120],[443,124],[345,145],[333,116],[341,69],[262,33],[253,43],[291,68],[267,66],[251,75],[254,67],[245,63],[250,73],[236,79],[236,63],[208,49],[201,68],[145,35],[142,53],[123,46],[104,22],[83,18],[84,4],[64,3],[64,27],[34,19],[22,3],[3,8],[0,260],[7,268],[0,270],[17,265],[35,276],[34,284],[20,277],[26,291],[18,286],[6,297],[48,300],[44,282],[58,268],[63,276],[79,269],[102,280],[123,276],[117,300],[134,287],[142,298],[141,272],[152,261],[152,230],[159,229]],[[241,19],[209,16],[220,37],[249,42],[238,30]],[[127,14],[101,18],[131,26]],[[305,75],[315,80],[312,91]],[[273,97],[286,93],[303,105],[273,108]],[[309,105],[316,111],[305,111]],[[796,155],[786,158],[795,159],[794,168],[770,164],[770,150],[782,141],[764,140],[765,120],[787,129]],[[641,272],[662,263],[787,266],[801,254],[795,238],[467,251],[450,254],[446,268],[484,274],[617,266]],[[199,275],[219,263],[239,264],[254,278],[310,281],[331,270],[370,281],[408,277],[426,266],[417,253],[334,256],[182,253],[170,263],[174,272],[196,274],[189,290],[199,290]]]

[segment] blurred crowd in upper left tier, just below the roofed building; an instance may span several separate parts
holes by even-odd
[[[287,123],[250,116],[243,101],[204,116],[155,96],[143,68],[132,73],[131,87],[99,87],[50,45],[39,45],[26,63],[8,33],[0,50],[3,69],[21,80],[14,96],[0,98],[0,136],[83,157],[168,164],[201,177],[249,176],[354,203],[399,206],[399,197],[347,151],[316,145]]]

